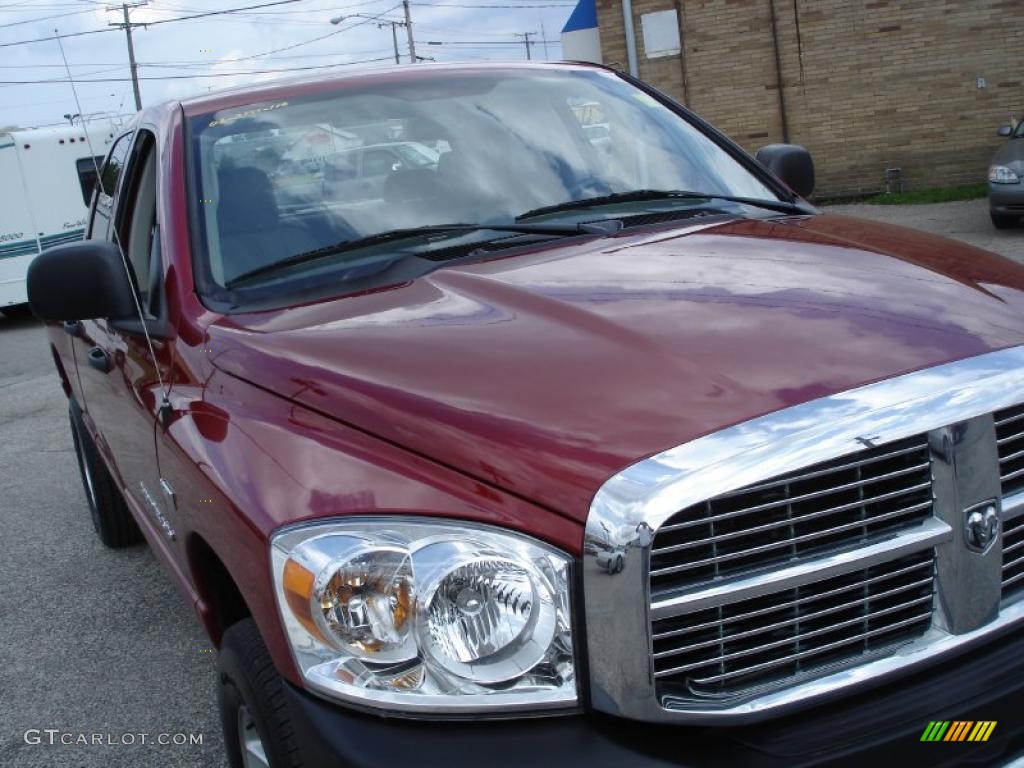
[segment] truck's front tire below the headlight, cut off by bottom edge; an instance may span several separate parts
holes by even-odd
[[[217,702],[231,768],[301,768],[284,683],[256,623],[224,633]]]

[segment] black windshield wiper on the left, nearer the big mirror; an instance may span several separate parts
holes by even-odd
[[[462,234],[464,232],[477,230],[517,232],[521,234],[548,234],[556,238],[570,237],[573,234],[607,234],[610,233],[611,229],[606,225],[606,223],[607,222],[584,222],[580,224],[520,224],[513,222],[509,224],[430,224],[427,226],[388,229],[387,231],[377,232],[376,234],[369,234],[366,238],[343,240],[340,243],[325,246],[324,248],[297,253],[294,256],[289,256],[281,261],[263,264],[262,266],[258,266],[231,278],[224,284],[224,287],[236,288],[237,286],[243,283],[249,283],[256,278],[262,278],[267,274],[284,271],[293,266],[297,266],[298,264],[307,264],[311,261],[317,261],[330,256],[337,256],[338,254],[346,253],[348,251],[357,251],[362,248],[370,248],[383,243],[390,243],[391,241],[408,240],[411,238],[419,238],[429,234]],[[614,229],[617,228],[618,227],[616,225]]]

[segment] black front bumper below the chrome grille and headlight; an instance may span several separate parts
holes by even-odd
[[[356,713],[286,684],[310,766],[1002,766],[1024,756],[1024,629],[938,670],[742,728],[648,725],[587,714],[426,722]],[[923,742],[930,721],[994,720],[985,742]]]

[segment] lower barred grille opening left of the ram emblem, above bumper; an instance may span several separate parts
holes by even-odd
[[[931,550],[652,623],[659,695],[729,696],[852,665],[931,626]]]

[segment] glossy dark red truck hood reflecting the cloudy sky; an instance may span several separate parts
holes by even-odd
[[[1024,269],[841,216],[620,233],[220,317],[215,366],[586,518],[639,459],[1024,344]]]

